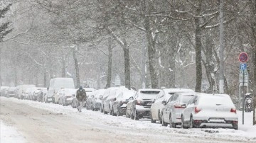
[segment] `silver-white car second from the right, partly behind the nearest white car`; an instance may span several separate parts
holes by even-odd
[[[176,125],[181,125],[181,113],[183,112],[184,108],[186,108],[186,103],[196,93],[188,92],[188,93],[175,93],[169,101],[163,101],[162,103],[165,105],[162,110],[162,125],[167,126],[170,124],[170,127],[176,127]]]

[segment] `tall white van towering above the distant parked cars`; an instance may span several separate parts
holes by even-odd
[[[50,79],[50,85],[45,101],[47,103],[58,103],[57,92],[60,88],[75,88],[75,84],[72,78],[55,78]]]

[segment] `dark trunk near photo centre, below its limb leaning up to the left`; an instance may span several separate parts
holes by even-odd
[[[123,48],[124,50],[124,84],[125,87],[129,90],[131,89],[131,75],[130,75],[130,65],[129,65],[129,48],[127,44],[126,47]]]

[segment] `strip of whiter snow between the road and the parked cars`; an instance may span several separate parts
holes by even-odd
[[[49,110],[53,113],[61,113],[68,115],[70,118],[78,118],[80,120],[86,120],[88,124],[93,127],[110,130],[112,132],[118,132],[119,134],[127,134],[127,130],[131,137],[136,134],[132,132],[134,130],[140,132],[140,135],[163,137],[166,135],[175,135],[177,137],[205,137],[206,139],[230,139],[233,141],[249,141],[256,142],[256,126],[252,126],[252,113],[245,113],[245,125],[242,124],[242,112],[238,111],[239,126],[238,130],[233,129],[180,129],[163,127],[161,124],[153,124],[149,119],[131,120],[129,118],[114,117],[112,115],[104,115],[103,113],[95,112],[92,110],[82,109],[82,113],[78,113],[78,110],[71,108],[70,106],[56,105],[52,103],[38,103],[34,101],[21,101],[16,98],[9,98],[7,100],[14,101],[16,103],[24,103],[31,107],[41,108],[43,110]],[[125,132],[124,132],[125,130]],[[154,132],[152,132],[154,131]],[[159,136],[160,135],[160,136]]]

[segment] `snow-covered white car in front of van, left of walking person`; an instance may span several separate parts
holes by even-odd
[[[75,93],[76,93],[75,88],[62,88],[60,89],[60,102],[59,104],[62,104],[63,106],[70,105],[72,101],[68,98],[75,98]]]

